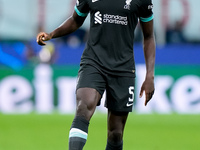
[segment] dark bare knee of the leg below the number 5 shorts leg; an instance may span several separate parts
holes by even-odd
[[[118,131],[118,130],[108,131],[108,140],[113,143],[121,142],[122,137],[123,137],[122,131]]]

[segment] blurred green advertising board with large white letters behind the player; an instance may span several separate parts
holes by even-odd
[[[0,112],[5,114],[74,113],[78,66],[39,64],[14,71],[0,67]],[[157,65],[155,95],[148,106],[139,98],[145,65],[136,67],[134,111],[137,113],[200,114],[200,67],[198,65]],[[103,107],[105,95],[99,112]]]

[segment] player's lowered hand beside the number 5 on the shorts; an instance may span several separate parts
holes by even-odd
[[[154,78],[153,77],[146,77],[145,81],[142,84],[141,90],[140,90],[140,98],[143,95],[143,92],[145,91],[145,103],[146,106],[147,103],[151,100],[153,97],[155,88],[154,88]]]

